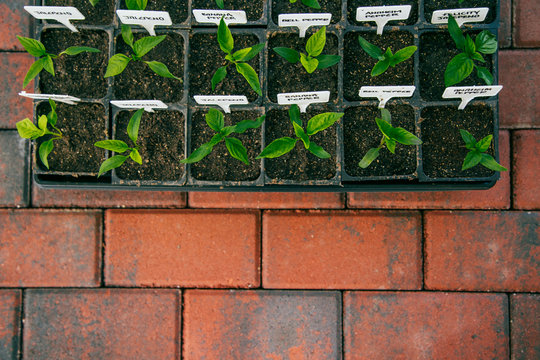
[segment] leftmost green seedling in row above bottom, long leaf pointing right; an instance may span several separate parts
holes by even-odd
[[[62,55],[75,56],[83,52],[100,52],[100,50],[88,46],[70,46],[60,54],[55,55],[47,52],[45,45],[43,45],[43,43],[39,40],[34,40],[23,36],[17,36],[17,39],[19,39],[21,45],[30,55],[38,58],[32,64],[32,66],[30,66],[30,69],[26,73],[23,81],[23,88],[27,87],[30,81],[38,76],[43,69],[45,69],[45,71],[50,73],[52,76],[55,76],[53,59],[58,59]]]

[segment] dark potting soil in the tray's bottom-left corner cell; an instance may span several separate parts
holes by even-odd
[[[42,102],[37,107],[38,117],[47,115],[50,111],[48,102]],[[108,133],[107,114],[103,105],[57,103],[56,113],[58,115],[56,127],[63,136],[54,141],[54,149],[49,154],[50,170],[97,174],[101,163],[105,161],[105,152],[95,147],[94,143],[99,139],[105,139]],[[50,125],[48,127],[54,131]],[[38,141],[36,152],[42,142]],[[36,158],[39,159],[37,153]],[[42,170],[47,170],[41,161],[38,162]]]

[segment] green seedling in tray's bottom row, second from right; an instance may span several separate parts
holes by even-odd
[[[369,149],[366,155],[364,155],[362,160],[358,163],[358,166],[362,169],[367,168],[375,159],[377,159],[381,149],[385,146],[388,151],[395,154],[397,143],[403,145],[420,145],[422,143],[419,138],[407,130],[401,127],[393,127],[392,116],[390,115],[390,111],[386,109],[381,109],[381,118],[375,118],[375,122],[383,134],[383,137],[379,146]]]

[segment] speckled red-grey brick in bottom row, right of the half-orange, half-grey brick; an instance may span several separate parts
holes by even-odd
[[[508,359],[505,294],[346,292],[345,360]]]

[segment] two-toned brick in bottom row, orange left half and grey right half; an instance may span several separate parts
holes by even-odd
[[[188,290],[184,301],[185,360],[340,358],[337,292]]]

